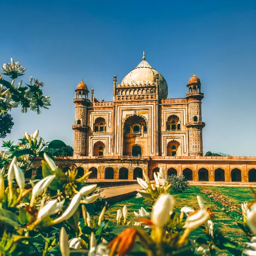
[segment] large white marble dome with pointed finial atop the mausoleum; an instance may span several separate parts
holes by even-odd
[[[122,80],[121,85],[126,84],[156,84],[156,74],[159,74],[158,82],[158,97],[161,99],[166,99],[168,95],[168,86],[164,77],[153,69],[150,64],[146,61],[145,52],[143,51],[142,61],[139,65],[128,73]]]

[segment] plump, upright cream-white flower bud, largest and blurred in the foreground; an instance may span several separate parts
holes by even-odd
[[[161,195],[152,209],[152,222],[158,226],[163,227],[170,217],[170,212],[174,208],[174,198],[169,194]]]

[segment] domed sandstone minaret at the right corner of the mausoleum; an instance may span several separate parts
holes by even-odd
[[[196,76],[188,80],[188,121],[186,127],[188,129],[189,156],[203,156],[203,127],[202,122],[202,99],[204,94],[201,93],[201,82]]]

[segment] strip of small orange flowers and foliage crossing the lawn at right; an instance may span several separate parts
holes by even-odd
[[[211,189],[201,189],[200,192],[211,202],[219,206],[228,216],[238,221],[243,220],[241,206],[237,205],[236,202],[228,196]]]

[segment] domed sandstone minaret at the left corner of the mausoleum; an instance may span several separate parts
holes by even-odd
[[[91,101],[88,99],[89,91],[83,79],[78,84],[75,92],[76,98],[73,102],[76,104],[76,117],[75,124],[72,125],[72,129],[74,130],[74,156],[86,156],[87,114]]]

